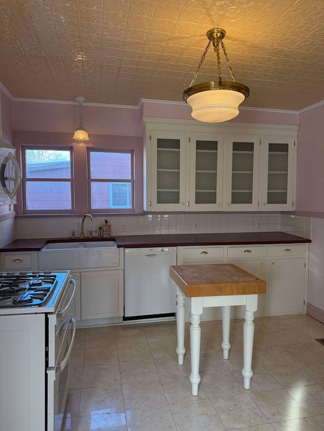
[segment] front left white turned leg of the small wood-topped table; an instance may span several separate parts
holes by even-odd
[[[199,358],[200,358],[200,315],[191,314],[190,318],[190,361],[191,361],[191,374],[189,380],[191,382],[191,394],[198,395],[198,386],[200,382],[199,375]]]

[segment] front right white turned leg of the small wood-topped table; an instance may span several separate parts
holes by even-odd
[[[244,388],[250,389],[252,371],[252,353],[253,353],[253,338],[254,338],[254,312],[247,311],[244,314],[243,323],[243,352],[244,365],[242,368],[242,376],[244,377]]]

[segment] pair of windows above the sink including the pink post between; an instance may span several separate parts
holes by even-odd
[[[22,213],[135,211],[134,149],[40,143],[20,149]]]

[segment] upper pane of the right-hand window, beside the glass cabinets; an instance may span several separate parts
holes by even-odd
[[[90,152],[90,170],[93,179],[131,179],[130,153]]]

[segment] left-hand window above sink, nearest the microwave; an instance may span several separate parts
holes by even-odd
[[[25,212],[73,212],[72,151],[23,149]]]

